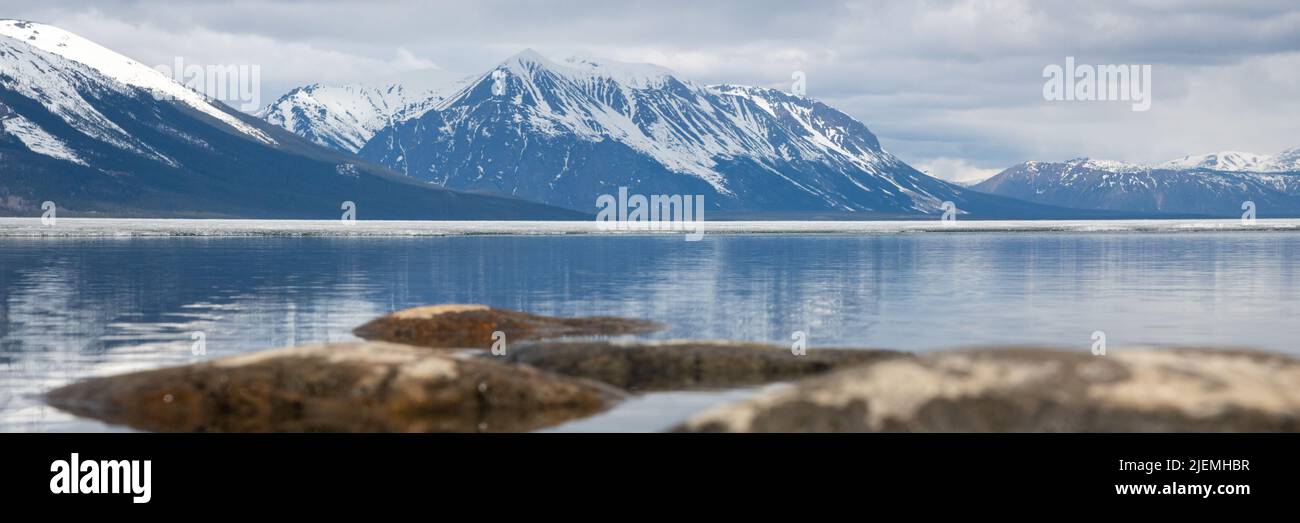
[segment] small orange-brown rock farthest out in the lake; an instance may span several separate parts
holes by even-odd
[[[564,336],[638,334],[662,328],[655,321],[624,317],[554,317],[482,304],[437,304],[387,314],[352,332],[365,340],[424,347],[488,349],[497,330],[515,343]]]

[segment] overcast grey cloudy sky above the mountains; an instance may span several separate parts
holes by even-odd
[[[52,23],[144,64],[250,64],[263,103],[306,83],[438,68],[478,74],[533,48],[654,62],[697,83],[837,107],[932,174],[1023,160],[1153,163],[1300,147],[1300,3],[1275,1],[51,1]],[[1152,107],[1048,101],[1044,68],[1152,66]]]

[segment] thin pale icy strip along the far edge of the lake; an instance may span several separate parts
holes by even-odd
[[[1300,219],[1257,220],[1026,220],[945,224],[926,221],[705,221],[710,234],[900,233],[1186,233],[1300,232]],[[140,237],[447,237],[447,235],[681,235],[680,230],[599,230],[595,221],[381,221],[358,220],[155,220],[0,217],[0,238]]]

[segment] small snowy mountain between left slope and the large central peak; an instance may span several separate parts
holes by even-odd
[[[441,72],[412,77],[298,87],[259,111],[257,117],[317,144],[356,152],[380,129],[422,114],[468,81]]]

